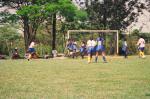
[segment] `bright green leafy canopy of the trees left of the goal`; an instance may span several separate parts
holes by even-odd
[[[21,9],[17,11],[18,15],[28,16],[30,19],[35,19],[42,16],[49,17],[54,13],[59,13],[66,17],[66,20],[70,21],[73,21],[75,17],[83,19],[85,16],[87,16],[86,12],[77,10],[75,5],[73,5],[70,0],[58,0],[57,2],[44,2],[42,0],[38,0],[34,4],[22,6]]]

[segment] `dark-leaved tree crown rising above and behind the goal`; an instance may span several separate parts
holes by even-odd
[[[92,0],[87,3],[87,12],[89,20],[98,28],[103,25],[103,29],[121,29],[137,17],[133,11],[137,5],[138,0]]]

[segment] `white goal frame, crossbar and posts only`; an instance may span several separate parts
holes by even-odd
[[[119,54],[119,31],[118,30],[68,30],[67,38],[70,38],[71,33],[114,33],[116,36],[116,54]]]

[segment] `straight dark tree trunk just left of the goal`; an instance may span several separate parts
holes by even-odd
[[[52,18],[52,50],[56,50],[56,13]]]

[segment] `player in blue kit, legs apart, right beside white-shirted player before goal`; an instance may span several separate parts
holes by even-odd
[[[99,37],[96,39],[96,57],[95,57],[95,62],[98,60],[98,55],[99,52],[102,53],[102,59],[106,63],[106,55],[105,55],[105,47],[104,47],[104,39],[99,35]]]

